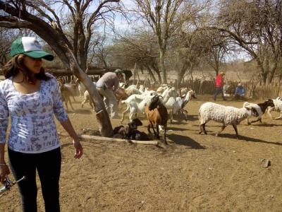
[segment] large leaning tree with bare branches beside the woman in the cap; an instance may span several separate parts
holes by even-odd
[[[0,26],[27,28],[42,37],[63,64],[82,81],[94,100],[102,136],[111,136],[112,126],[104,102],[85,73],[87,54],[99,22],[113,23],[120,0],[5,0],[0,1]]]

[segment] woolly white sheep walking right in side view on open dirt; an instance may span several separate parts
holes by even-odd
[[[221,131],[223,131],[226,126],[230,124],[233,126],[236,137],[238,138],[239,135],[237,125],[240,124],[243,119],[246,119],[250,114],[258,116],[257,111],[250,106],[244,105],[242,108],[236,108],[219,105],[214,102],[206,102],[201,105],[199,110],[199,134],[202,134],[202,132],[204,132],[204,134],[207,134],[205,124],[207,124],[207,122],[209,122],[210,120],[213,120],[215,122],[221,122],[223,124],[219,133],[221,133]],[[218,134],[216,134],[216,136],[218,136]]]

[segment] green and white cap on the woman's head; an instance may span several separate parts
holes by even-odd
[[[35,37],[19,37],[12,43],[11,56],[16,54],[25,54],[32,58],[43,58],[49,61],[54,59],[52,54],[44,52]]]

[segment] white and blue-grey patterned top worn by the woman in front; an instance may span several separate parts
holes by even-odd
[[[0,143],[6,142],[8,115],[11,131],[8,148],[21,153],[42,153],[59,147],[54,114],[59,122],[68,119],[56,78],[40,81],[35,93],[19,93],[12,78],[0,82]]]

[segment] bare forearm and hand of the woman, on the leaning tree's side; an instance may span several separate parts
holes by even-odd
[[[80,158],[83,153],[83,148],[80,144],[78,134],[76,134],[75,129],[73,129],[73,125],[71,124],[70,119],[67,119],[66,121],[60,123],[63,126],[63,129],[65,129],[68,134],[73,138],[73,146],[75,147],[75,158]]]

